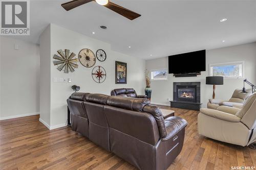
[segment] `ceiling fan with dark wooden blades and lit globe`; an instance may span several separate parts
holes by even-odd
[[[102,5],[106,8],[109,8],[112,11],[115,11],[116,13],[128,18],[128,19],[135,19],[138,18],[139,16],[141,16],[140,14],[133,12],[129,9],[123,8],[117,4],[114,4],[112,2],[109,2],[109,0],[73,0],[64,4],[61,4],[61,6],[66,9],[67,11],[76,8],[80,5],[86,4],[86,3],[90,3],[92,1],[95,1],[96,3],[98,3],[99,5]]]

